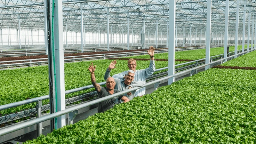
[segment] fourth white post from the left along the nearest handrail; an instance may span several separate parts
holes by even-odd
[[[227,40],[229,34],[229,0],[226,0],[226,8],[225,8],[225,33],[224,33],[224,58],[227,57]],[[224,62],[227,60],[225,59]]]

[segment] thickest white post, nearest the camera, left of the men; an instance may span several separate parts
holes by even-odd
[[[55,94],[57,111],[65,110],[65,81],[64,81],[64,49],[63,49],[63,20],[62,20],[62,0],[55,1],[54,9],[54,49],[56,67],[56,87]],[[66,125],[66,115],[57,117],[57,128]],[[55,127],[56,129],[56,127]]]

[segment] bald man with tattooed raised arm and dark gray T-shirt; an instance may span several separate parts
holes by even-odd
[[[93,66],[93,63],[89,66],[88,70],[91,73],[91,83],[93,84],[94,88],[96,89],[98,93],[98,97],[102,98],[105,96],[113,95],[114,93],[120,92],[117,89],[114,89],[115,87],[115,80],[112,77],[107,78],[106,80],[106,88],[101,87],[97,82],[94,75],[94,71],[96,69],[96,65]],[[108,99],[106,101],[100,102],[98,104],[98,112],[105,112],[108,109],[111,109],[114,107],[115,104],[117,104],[118,100],[121,100],[123,102],[129,102],[129,99],[126,96],[118,96],[111,99]]]

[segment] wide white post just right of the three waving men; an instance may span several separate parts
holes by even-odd
[[[175,72],[174,56],[175,56],[175,9],[176,0],[169,0],[169,47],[168,47],[168,76]],[[168,85],[174,82],[174,77],[168,79]]]

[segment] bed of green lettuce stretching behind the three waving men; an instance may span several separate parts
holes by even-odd
[[[216,51],[222,51],[222,48],[212,48],[211,55],[217,55],[221,52],[216,53]],[[176,59],[200,59],[205,56],[203,53],[204,49],[190,50],[190,51],[179,51],[176,52]],[[200,56],[199,56],[200,55]],[[178,58],[177,58],[178,56]],[[196,56],[196,57],[194,57]],[[134,56],[134,58],[149,58],[148,55]],[[168,53],[166,54],[155,54],[156,59],[168,59]],[[90,75],[87,70],[89,64],[93,62],[97,65],[97,70],[95,75],[97,77],[97,82],[103,82],[103,75],[106,68],[108,67],[111,60],[97,60],[97,61],[87,61],[79,63],[67,63],[65,64],[65,90],[70,90],[78,87],[83,87],[91,85]],[[175,64],[184,63],[175,62]],[[137,61],[137,69],[145,69],[148,67],[149,61]],[[156,61],[156,69],[167,67],[168,62],[166,61]],[[120,73],[128,70],[127,61],[118,60],[117,68],[111,71],[111,75],[115,73]],[[48,66],[39,67],[28,67],[15,70],[3,70],[0,71],[0,105],[14,103],[18,101],[23,101],[29,98],[40,97],[49,94],[48,86]],[[73,95],[79,95],[92,91],[94,89],[87,89],[79,91],[77,93],[72,93],[66,95],[66,97],[71,97]],[[47,104],[49,101],[43,101],[43,104]],[[31,103],[8,110],[0,111],[0,114],[7,114],[11,112],[21,111],[23,109],[28,109],[34,107],[36,103]]]

